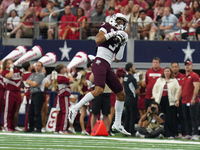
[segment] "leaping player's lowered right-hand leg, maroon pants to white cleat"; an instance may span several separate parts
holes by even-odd
[[[106,75],[106,84],[109,88],[116,94],[117,100],[115,102],[115,122],[112,125],[112,129],[116,129],[117,131],[131,135],[128,133],[124,127],[121,125],[122,111],[124,108],[125,101],[125,93],[123,91],[123,86],[117,78],[116,74],[110,69]]]

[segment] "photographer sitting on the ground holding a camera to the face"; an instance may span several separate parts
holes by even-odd
[[[140,118],[139,123],[147,121],[147,127],[138,127],[136,137],[140,138],[163,138],[165,114],[160,112],[160,105],[151,102],[147,112]]]

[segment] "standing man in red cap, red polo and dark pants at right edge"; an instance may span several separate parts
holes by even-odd
[[[186,134],[182,139],[198,140],[198,108],[199,108],[199,75],[192,71],[191,61],[185,62],[185,77],[182,80],[179,89],[178,101],[182,97],[183,115],[185,118]]]

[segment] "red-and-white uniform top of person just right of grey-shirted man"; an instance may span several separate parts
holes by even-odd
[[[57,77],[58,82],[58,96],[70,96],[70,86],[69,86],[69,78],[62,74],[58,74]]]

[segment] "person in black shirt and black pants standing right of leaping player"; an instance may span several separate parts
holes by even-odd
[[[137,100],[139,89],[136,79],[133,77],[135,73],[135,67],[132,63],[128,63],[125,66],[128,74],[123,79],[124,90],[126,93],[125,99],[125,129],[131,133],[131,136],[135,136],[135,119],[137,117]]]

